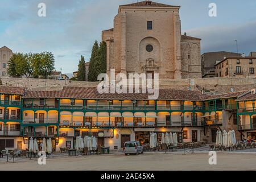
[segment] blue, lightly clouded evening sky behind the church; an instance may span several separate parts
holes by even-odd
[[[0,0],[0,47],[13,52],[50,51],[55,68],[77,71],[81,55],[89,61],[101,31],[113,27],[118,6],[137,0]],[[38,4],[46,4],[46,17],[38,16]],[[157,0],[179,5],[181,32],[201,38],[201,53],[212,51],[249,54],[256,51],[255,0]],[[217,16],[210,17],[209,3]]]

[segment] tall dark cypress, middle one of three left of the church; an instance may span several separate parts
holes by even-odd
[[[99,59],[98,59],[98,42],[97,40],[94,42],[92,47],[92,54],[90,56],[90,64],[89,64],[89,72],[88,72],[88,80],[89,81],[97,81],[98,72],[100,71]]]

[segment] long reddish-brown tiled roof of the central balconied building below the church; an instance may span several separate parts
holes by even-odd
[[[92,100],[148,100],[148,93],[98,93],[95,87],[64,86],[63,90],[27,90],[24,98],[80,98]],[[199,91],[160,89],[158,100],[201,101]]]

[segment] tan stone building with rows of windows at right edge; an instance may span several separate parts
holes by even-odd
[[[215,64],[216,77],[255,78],[255,71],[256,57],[226,57]]]

